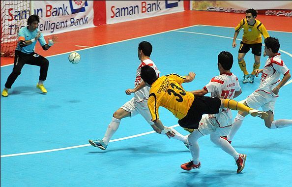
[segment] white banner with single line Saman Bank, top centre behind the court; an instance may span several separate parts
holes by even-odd
[[[181,11],[183,0],[106,0],[107,24]]]

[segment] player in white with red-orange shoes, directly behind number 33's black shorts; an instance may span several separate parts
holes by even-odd
[[[218,55],[218,70],[220,75],[211,79],[202,90],[192,91],[196,96],[204,96],[211,93],[212,97],[222,99],[233,99],[241,94],[241,88],[237,77],[231,72],[233,65],[233,56],[230,52],[222,51]],[[231,110],[228,108],[220,108],[218,114],[204,115],[199,123],[198,129],[186,129],[191,132],[188,136],[189,149],[192,154],[192,161],[184,163],[181,168],[190,170],[199,168],[200,148],[198,139],[204,135],[210,134],[211,141],[218,145],[223,151],[233,156],[237,164],[237,173],[240,173],[244,168],[246,155],[238,154],[235,149],[220,136],[228,135],[231,130],[233,117]]]

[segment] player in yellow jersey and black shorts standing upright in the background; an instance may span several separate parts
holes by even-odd
[[[269,37],[269,33],[263,26],[263,24],[256,19],[257,11],[253,8],[246,10],[246,18],[242,19],[240,23],[235,27],[234,37],[232,47],[236,47],[236,37],[241,29],[243,29],[242,41],[240,42],[240,47],[238,50],[238,64],[240,69],[243,71],[243,81],[242,83],[254,83],[255,70],[259,69],[262,55],[262,35],[264,38]],[[244,61],[244,56],[246,53],[252,49],[252,54],[254,54],[255,62],[253,65],[253,71],[251,74],[246,70],[246,63]],[[263,52],[263,56],[265,53]]]

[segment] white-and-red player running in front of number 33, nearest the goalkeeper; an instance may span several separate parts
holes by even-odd
[[[117,128],[119,127],[120,121],[122,118],[126,117],[133,117],[137,114],[141,114],[144,119],[147,121],[149,125],[159,134],[165,134],[164,131],[161,131],[154,123],[151,121],[152,117],[149,112],[148,106],[147,106],[147,100],[149,95],[150,88],[146,86],[145,82],[141,79],[140,73],[141,73],[141,67],[145,65],[151,66],[155,72],[157,77],[159,77],[160,71],[158,70],[155,63],[150,60],[150,55],[152,53],[152,45],[147,41],[142,41],[138,45],[138,58],[141,61],[137,73],[136,73],[136,80],[135,80],[135,88],[134,89],[127,89],[125,92],[126,94],[134,93],[134,97],[126,102],[123,106],[121,106],[117,111],[113,114],[113,118],[111,123],[108,125],[107,131],[103,137],[103,139],[97,139],[97,140],[89,140],[89,143],[94,146],[98,147],[101,150],[106,150],[108,143],[114,133],[117,131]],[[170,129],[169,127],[166,127],[167,129]],[[171,128],[172,129],[172,128]],[[188,147],[187,138],[177,132],[175,129],[172,129],[174,131],[174,136],[172,138],[180,140],[185,144],[186,147]],[[169,137],[170,138],[170,137]]]

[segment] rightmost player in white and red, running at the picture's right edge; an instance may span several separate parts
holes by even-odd
[[[278,53],[280,48],[279,40],[274,37],[267,37],[264,40],[264,50],[269,57],[263,69],[255,70],[255,75],[258,77],[259,73],[262,73],[261,83],[259,88],[246,99],[244,104],[246,106],[258,109],[263,108],[269,117],[264,120],[264,124],[268,128],[283,128],[292,125],[292,120],[274,120],[274,108],[277,97],[279,96],[279,90],[286,82],[291,78],[290,70],[281,59],[281,54]],[[283,74],[283,79],[280,81],[280,76]],[[247,114],[245,112],[238,112],[234,119],[234,124],[231,132],[228,135],[228,140],[231,142],[234,138],[234,134],[242,125],[244,117]]]

